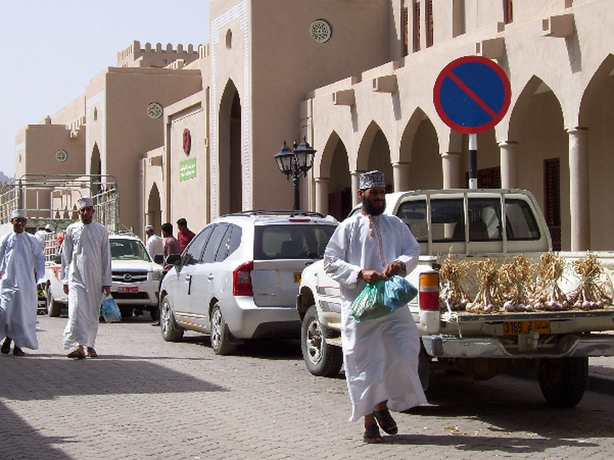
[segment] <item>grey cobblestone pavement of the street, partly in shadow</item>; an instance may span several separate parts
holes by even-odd
[[[0,356],[2,459],[611,458],[614,359],[591,359],[578,407],[538,383],[436,374],[430,405],[395,415],[399,434],[363,445],[343,375],[313,377],[297,340],[213,355],[207,337],[168,343],[149,316],[100,324],[99,358],[61,347],[65,318],[39,316],[40,348]],[[29,353],[28,353],[29,352]]]

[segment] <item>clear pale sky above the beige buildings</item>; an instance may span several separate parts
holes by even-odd
[[[81,94],[117,52],[209,42],[209,0],[0,0],[0,171],[15,174],[15,135]]]

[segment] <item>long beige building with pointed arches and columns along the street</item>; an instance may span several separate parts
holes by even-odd
[[[212,0],[197,53],[135,42],[92,79],[76,147],[85,171],[117,174],[122,221],[140,234],[179,217],[197,231],[227,212],[289,209],[292,183],[273,156],[306,136],[317,153],[301,207],[341,218],[368,169],[391,190],[467,186],[467,135],[441,121],[433,86],[446,64],[480,55],[508,75],[511,103],[477,136],[478,186],[532,191],[562,249],[612,249],[611,6]],[[70,125],[51,121],[49,136]],[[29,170],[36,155],[18,145],[28,163],[17,171]]]

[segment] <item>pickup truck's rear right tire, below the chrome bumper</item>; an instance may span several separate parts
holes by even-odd
[[[537,369],[537,380],[543,397],[554,407],[577,405],[588,381],[588,358],[542,359]]]

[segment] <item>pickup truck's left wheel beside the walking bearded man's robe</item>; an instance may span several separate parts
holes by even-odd
[[[343,351],[338,345],[326,343],[335,333],[323,328],[317,318],[316,305],[311,305],[301,323],[303,360],[313,375],[335,377],[343,365]]]

